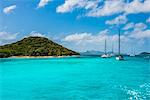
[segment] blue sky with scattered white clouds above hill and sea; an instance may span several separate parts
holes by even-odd
[[[0,0],[0,45],[47,37],[77,52],[150,52],[150,0]]]

